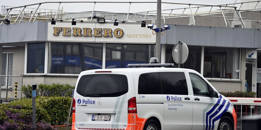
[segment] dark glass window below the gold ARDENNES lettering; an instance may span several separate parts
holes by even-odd
[[[149,63],[154,57],[154,45],[106,44],[105,68],[126,68],[128,64]]]

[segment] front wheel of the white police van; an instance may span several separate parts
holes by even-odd
[[[222,117],[218,125],[218,130],[234,130],[233,121],[228,116]]]

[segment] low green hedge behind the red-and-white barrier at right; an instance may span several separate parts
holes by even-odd
[[[248,97],[248,98],[255,98],[256,92],[220,92],[220,94],[224,95],[225,97]]]

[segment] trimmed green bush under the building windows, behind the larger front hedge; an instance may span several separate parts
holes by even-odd
[[[69,84],[53,83],[52,85],[39,84],[36,89],[37,96],[71,96],[75,87]],[[26,98],[32,98],[32,86],[22,86]]]

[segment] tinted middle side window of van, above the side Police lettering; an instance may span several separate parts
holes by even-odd
[[[163,94],[188,95],[184,72],[160,72]]]

